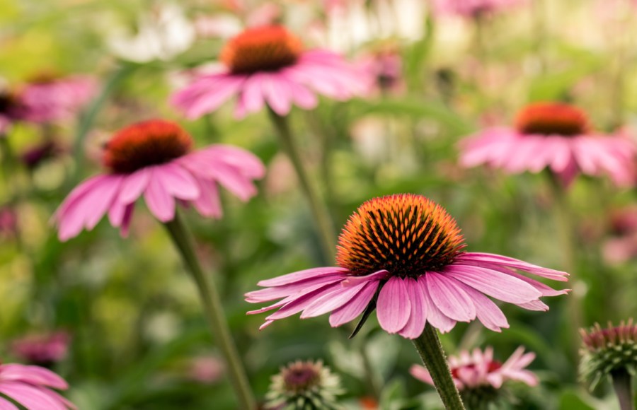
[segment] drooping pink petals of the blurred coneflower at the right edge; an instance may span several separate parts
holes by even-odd
[[[566,187],[580,172],[606,173],[620,186],[635,182],[637,148],[624,135],[528,135],[496,127],[464,141],[461,151],[465,167],[490,165],[511,174],[549,168]]]

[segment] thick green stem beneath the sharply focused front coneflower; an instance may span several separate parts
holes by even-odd
[[[434,381],[434,385],[442,404],[447,410],[464,410],[460,393],[452,378],[451,370],[444,356],[442,344],[436,330],[429,323],[425,324],[425,330],[418,339],[413,339],[413,344],[427,366],[429,374]]]

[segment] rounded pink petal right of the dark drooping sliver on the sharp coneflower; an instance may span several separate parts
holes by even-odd
[[[407,324],[411,314],[411,302],[403,279],[389,278],[378,295],[376,315],[387,333],[396,333]]]

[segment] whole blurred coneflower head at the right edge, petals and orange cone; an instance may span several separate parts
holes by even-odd
[[[591,131],[583,111],[561,103],[529,105],[517,115],[515,127],[485,129],[461,148],[460,162],[466,167],[486,164],[510,173],[548,168],[565,186],[580,172],[606,173],[617,185],[634,181],[633,142]]]

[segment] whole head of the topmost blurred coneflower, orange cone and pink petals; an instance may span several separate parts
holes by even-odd
[[[172,102],[190,119],[217,110],[237,97],[238,118],[265,104],[287,115],[292,104],[316,107],[315,93],[345,100],[364,90],[362,73],[338,54],[304,49],[301,40],[279,25],[248,28],[231,39],[221,54],[222,66],[195,76]]]

